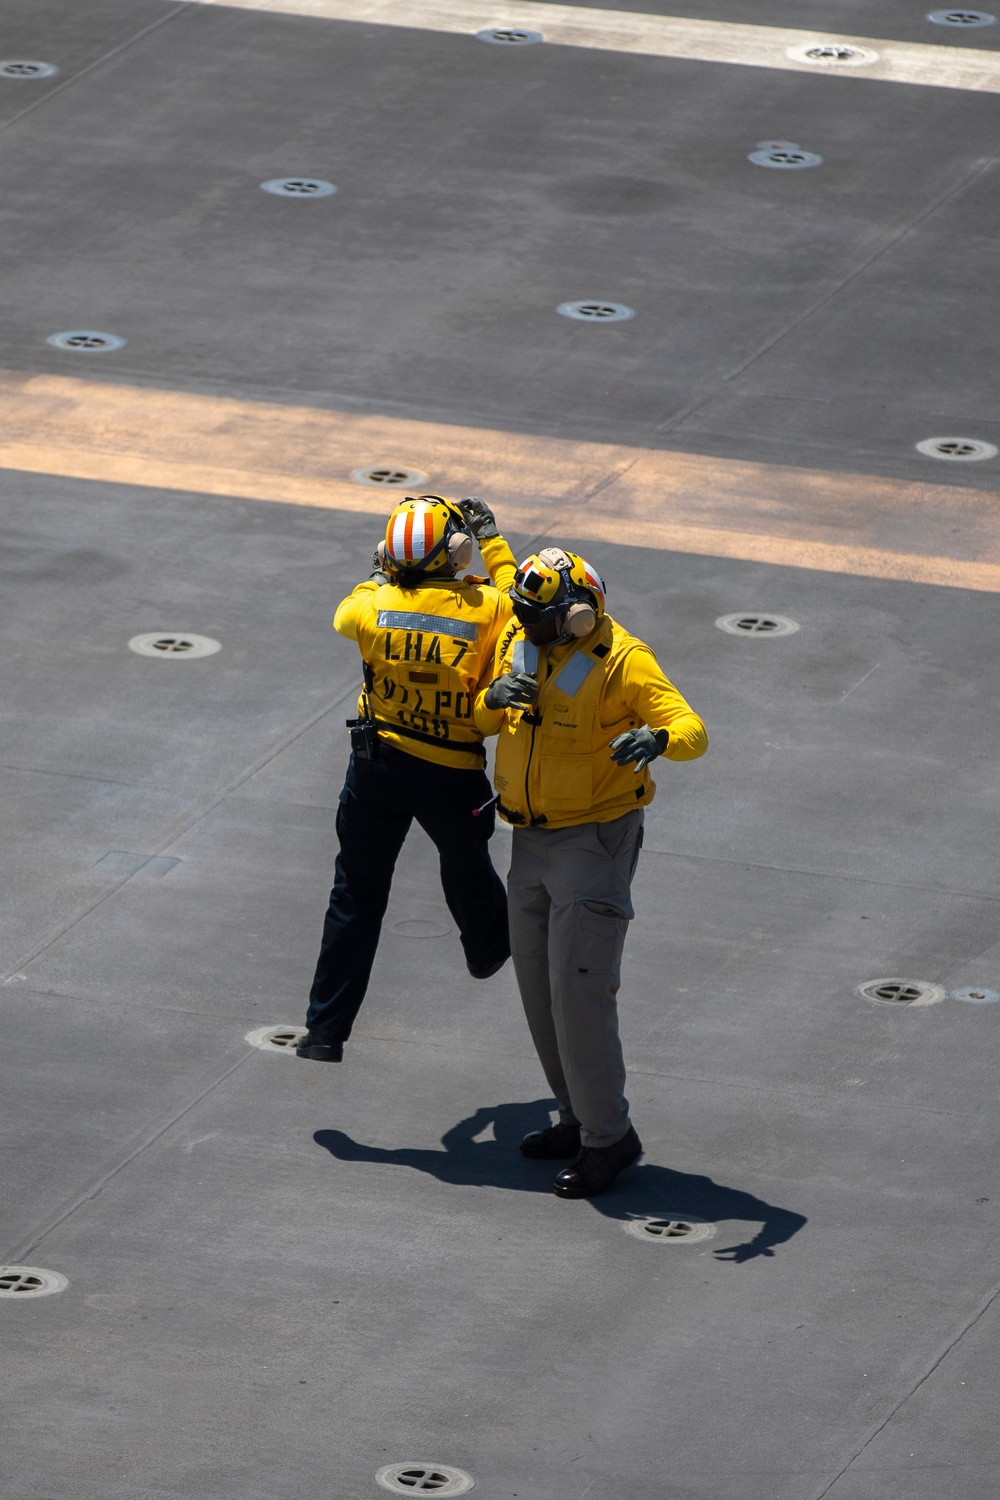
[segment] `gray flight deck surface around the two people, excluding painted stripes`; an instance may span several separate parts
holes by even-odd
[[[922,14],[751,20],[970,45]],[[853,474],[859,510],[871,476],[889,550],[879,484],[960,486],[990,534],[1000,460],[915,442],[1000,442],[993,94],[159,0],[6,0],[0,42],[61,69],[0,78],[7,370]],[[751,166],[771,138],[823,166]],[[292,172],[337,195],[258,190]],[[646,1156],[565,1203],[423,834],[343,1065],[244,1041],[303,1020],[376,518],[55,448],[0,470],[0,1257],[69,1284],[0,1299],[0,1492],[373,1500],[412,1460],[483,1500],[991,1500],[1000,1006],[855,990],[1000,988],[997,594],[582,548],[711,750],[657,774],[636,882]],[[127,650],[160,628],[222,650]],[[718,1232],[624,1233],[657,1215]]]

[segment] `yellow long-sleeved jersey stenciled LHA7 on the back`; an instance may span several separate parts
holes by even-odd
[[[333,618],[361,651],[379,740],[457,771],[481,771],[486,762],[475,699],[493,676],[511,616],[514,556],[502,537],[481,542],[480,552],[492,584],[432,576],[400,588],[366,579]]]

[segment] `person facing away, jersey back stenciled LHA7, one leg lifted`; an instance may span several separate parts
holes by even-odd
[[[495,582],[456,576],[472,558],[474,537]],[[375,573],[333,621],[358,645],[364,687],[360,718],[351,722],[337,812],[340,852],[307,1034],[295,1047],[300,1058],[318,1062],[343,1056],[414,818],[438,848],[469,974],[489,978],[510,957],[507,897],[489,855],[493,798],[474,708],[510,622],[513,554],[481,500],[456,504],[421,495],[396,507],[372,561]]]

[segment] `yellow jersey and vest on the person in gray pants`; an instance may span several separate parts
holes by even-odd
[[[615,765],[610,742],[627,729],[667,729],[667,760],[694,760],[708,750],[699,716],[669,682],[648,645],[604,615],[577,642],[532,646],[511,620],[493,676],[531,672],[541,684],[526,710],[475,702],[484,735],[498,735],[499,813],[508,824],[567,828],[607,824],[657,792],[649,770]]]

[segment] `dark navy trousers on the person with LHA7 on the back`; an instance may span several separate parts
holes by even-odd
[[[421,760],[379,746],[376,760],[351,756],[337,808],[340,854],[322,930],[306,1024],[322,1041],[346,1041],[375,963],[393,870],[414,819],[441,856],[441,885],[472,969],[510,954],[507,892],[489,855],[493,789],[483,771]]]

